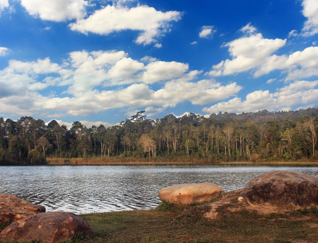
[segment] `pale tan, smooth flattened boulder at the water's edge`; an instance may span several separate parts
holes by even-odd
[[[223,189],[210,182],[174,185],[159,191],[161,201],[173,207],[206,203],[221,194]]]

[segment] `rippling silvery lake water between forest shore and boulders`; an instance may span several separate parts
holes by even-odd
[[[154,208],[166,186],[213,182],[225,191],[243,188],[271,170],[318,177],[317,166],[266,165],[63,165],[0,166],[0,193],[11,193],[46,211],[74,213]]]

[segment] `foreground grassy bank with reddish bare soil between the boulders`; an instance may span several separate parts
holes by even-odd
[[[83,214],[94,237],[80,242],[318,242],[317,208],[265,215],[235,211],[235,204],[219,207],[213,219],[203,216],[209,204]]]

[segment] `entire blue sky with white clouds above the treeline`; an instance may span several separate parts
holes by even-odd
[[[318,2],[0,0],[0,116],[318,105]]]

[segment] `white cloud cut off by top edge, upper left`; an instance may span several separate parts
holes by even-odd
[[[21,5],[34,17],[42,20],[66,21],[86,16],[85,0],[21,0]]]

